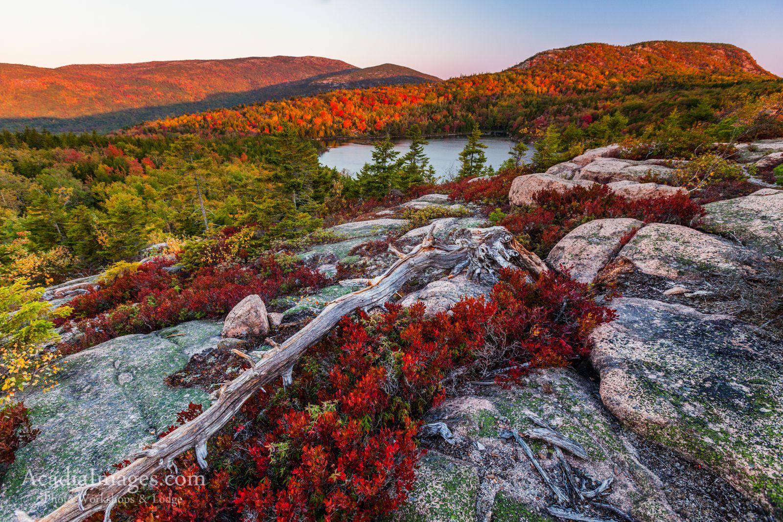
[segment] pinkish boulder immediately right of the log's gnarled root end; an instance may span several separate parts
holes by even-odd
[[[590,283],[622,248],[621,240],[643,226],[644,222],[630,218],[596,219],[579,225],[554,246],[547,265],[555,270],[563,266],[573,279]]]

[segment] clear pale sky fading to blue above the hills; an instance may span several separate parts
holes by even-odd
[[[783,76],[783,0],[2,0],[0,62],[244,56],[397,63],[446,78],[601,41],[720,41]]]

